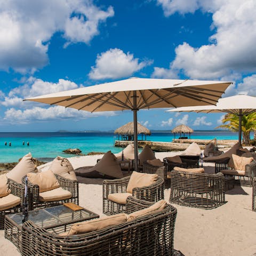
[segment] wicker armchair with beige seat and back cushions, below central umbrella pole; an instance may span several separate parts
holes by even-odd
[[[123,179],[104,180],[102,183],[103,213],[112,215],[124,212],[128,196],[149,202],[164,198],[164,180],[157,174],[133,171]]]

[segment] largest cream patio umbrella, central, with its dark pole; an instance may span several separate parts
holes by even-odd
[[[137,111],[216,104],[231,82],[129,78],[26,100],[94,111],[133,111],[134,159],[138,170]]]

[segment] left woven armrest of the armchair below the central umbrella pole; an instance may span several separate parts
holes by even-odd
[[[122,179],[103,180],[102,182],[103,199],[104,198],[107,199],[109,194],[126,193],[126,188],[129,180],[130,180],[130,176],[124,177]]]

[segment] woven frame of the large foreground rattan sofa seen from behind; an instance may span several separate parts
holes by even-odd
[[[153,203],[128,197],[126,213],[145,209]],[[22,227],[23,256],[173,256],[174,224],[177,210],[166,208],[132,221],[90,233],[59,236],[38,228],[31,221]],[[60,230],[60,229],[59,229]],[[61,230],[60,230],[61,231]],[[66,231],[62,228],[62,232]]]

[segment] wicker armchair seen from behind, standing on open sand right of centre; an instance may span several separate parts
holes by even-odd
[[[225,203],[224,175],[173,170],[170,202],[202,209],[216,208]]]

